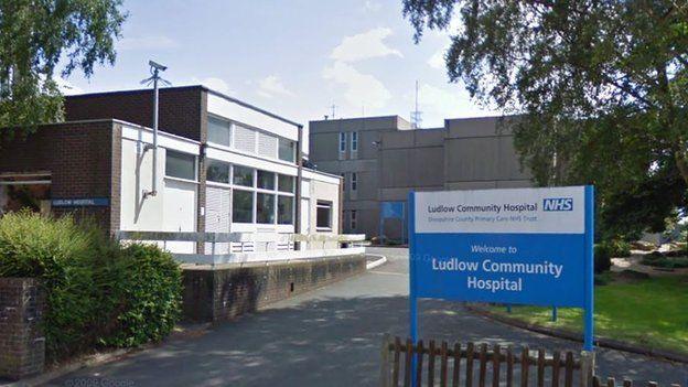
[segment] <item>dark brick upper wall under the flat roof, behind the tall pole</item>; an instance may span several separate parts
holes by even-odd
[[[201,86],[161,88],[158,128],[196,141],[205,141],[201,130],[205,119],[205,95]],[[85,94],[65,98],[67,121],[110,118],[152,128],[152,89]]]

